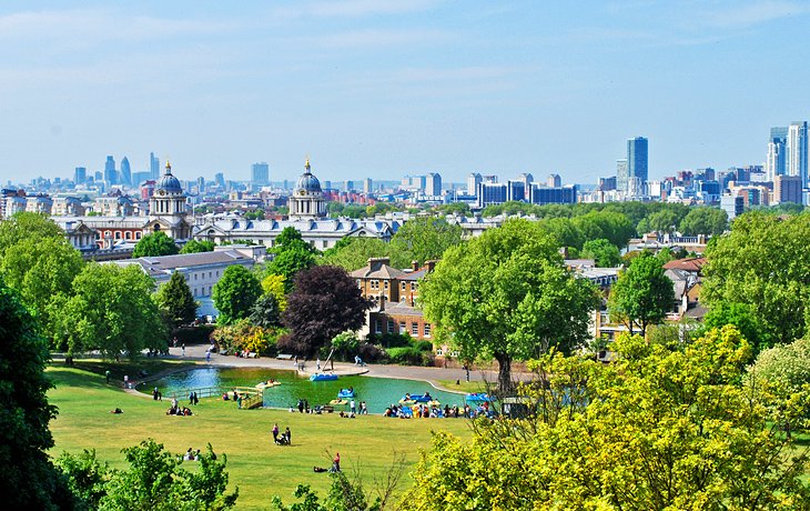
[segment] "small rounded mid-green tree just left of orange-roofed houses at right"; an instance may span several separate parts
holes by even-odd
[[[619,280],[610,289],[608,309],[634,331],[660,322],[672,308],[675,290],[672,281],[664,274],[660,261],[648,252],[635,258],[627,270],[619,273]]]

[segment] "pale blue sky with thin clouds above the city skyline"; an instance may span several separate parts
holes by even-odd
[[[108,154],[181,179],[594,183],[759,164],[810,118],[810,2],[3,1],[0,181]]]

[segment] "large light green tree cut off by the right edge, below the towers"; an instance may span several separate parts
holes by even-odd
[[[810,314],[810,214],[748,212],[715,239],[706,251],[701,302],[710,311],[747,305],[763,335],[751,340],[755,345],[803,337]]]

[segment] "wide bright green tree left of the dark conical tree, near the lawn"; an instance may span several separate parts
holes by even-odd
[[[152,300],[154,282],[136,264],[90,263],[73,279],[73,294],[53,304],[54,342],[69,354],[100,350],[110,359],[163,349],[166,331]]]

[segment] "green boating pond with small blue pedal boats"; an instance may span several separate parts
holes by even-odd
[[[383,413],[392,403],[396,404],[405,393],[424,394],[429,392],[442,405],[464,405],[465,394],[444,392],[435,389],[426,381],[399,380],[371,377],[341,377],[335,381],[310,381],[308,377],[300,377],[295,371],[272,369],[230,369],[204,368],[178,372],[150,383],[163,393],[178,392],[184,389],[219,387],[223,390],[232,387],[254,387],[260,381],[270,379],[282,382],[281,385],[264,390],[264,405],[272,408],[294,407],[298,399],[306,399],[311,407],[327,404],[337,398],[341,389],[354,388],[355,401],[365,401],[369,413]],[[149,392],[149,390],[143,390]],[[347,408],[347,407],[346,407]]]

